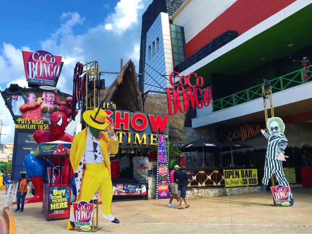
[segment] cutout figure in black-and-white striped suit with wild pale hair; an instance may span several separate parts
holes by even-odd
[[[266,186],[269,183],[269,179],[273,174],[278,183],[283,186],[289,186],[285,174],[283,171],[282,161],[286,161],[288,156],[285,156],[285,149],[287,147],[288,141],[284,135],[285,124],[283,120],[279,117],[272,117],[268,119],[267,128],[270,134],[267,134],[265,130],[261,129],[263,136],[268,139],[268,145],[266,147],[266,162],[264,166],[264,175],[262,179],[262,186],[256,193],[265,193]],[[294,204],[293,195],[290,190],[290,206]]]

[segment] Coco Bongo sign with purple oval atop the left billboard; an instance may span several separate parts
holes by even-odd
[[[29,84],[55,86],[61,72],[61,56],[43,50],[22,51],[26,80]]]

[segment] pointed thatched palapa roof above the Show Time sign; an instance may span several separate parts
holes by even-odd
[[[105,98],[117,105],[117,110],[131,112],[142,111],[142,98],[139,89],[134,63],[129,60],[121,69],[115,81],[105,90],[101,90],[100,99]]]

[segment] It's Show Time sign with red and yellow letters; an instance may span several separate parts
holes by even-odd
[[[115,130],[122,146],[157,146],[158,134],[163,134],[168,115],[115,110],[116,104],[104,103],[109,122],[116,124]]]

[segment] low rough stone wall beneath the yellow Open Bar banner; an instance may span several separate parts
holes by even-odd
[[[227,196],[227,195],[254,193],[256,189],[258,188],[260,188],[260,186],[188,190],[186,191],[186,197],[187,199],[195,199],[195,198],[204,198],[204,197],[219,197],[219,196]]]

